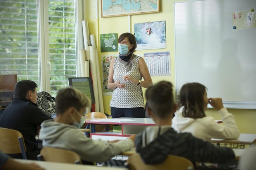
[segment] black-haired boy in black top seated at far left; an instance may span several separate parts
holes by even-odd
[[[52,119],[42,112],[36,105],[36,83],[22,80],[14,87],[14,101],[4,110],[0,117],[0,127],[19,131],[25,142],[28,159],[37,160],[39,149],[35,145],[38,126],[48,119]],[[22,158],[21,154],[10,155]]]

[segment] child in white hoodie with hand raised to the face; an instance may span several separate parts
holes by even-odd
[[[189,132],[193,136],[210,140],[236,139],[240,136],[234,116],[228,113],[221,98],[208,98],[207,88],[200,83],[187,83],[180,90],[180,105],[172,119],[172,127],[177,132]],[[222,117],[219,124],[214,117],[206,116],[207,104],[218,110]]]

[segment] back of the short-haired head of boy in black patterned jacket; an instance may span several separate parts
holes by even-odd
[[[173,114],[175,104],[173,100],[173,85],[167,81],[161,81],[147,88],[145,93],[147,107],[153,114],[161,119]]]

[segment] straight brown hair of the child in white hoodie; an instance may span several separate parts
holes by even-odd
[[[200,83],[187,83],[180,89],[179,104],[184,106],[182,115],[193,119],[206,117],[204,93],[207,88]]]

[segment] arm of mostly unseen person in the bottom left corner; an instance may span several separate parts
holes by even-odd
[[[0,152],[0,170],[45,170],[35,163],[19,163]]]

